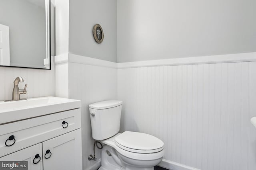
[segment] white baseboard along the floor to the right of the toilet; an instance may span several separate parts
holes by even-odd
[[[176,162],[172,162],[170,160],[165,160],[163,159],[162,162],[160,164],[158,164],[158,166],[161,166],[163,168],[167,168],[169,170],[200,170],[197,168],[193,168],[191,166],[186,166],[180,163],[176,163]]]

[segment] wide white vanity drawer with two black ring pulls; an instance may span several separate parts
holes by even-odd
[[[0,125],[0,157],[80,127],[81,109]]]

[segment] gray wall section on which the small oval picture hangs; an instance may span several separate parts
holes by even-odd
[[[95,42],[93,26],[104,31],[101,44]],[[116,0],[69,1],[69,53],[116,62]]]

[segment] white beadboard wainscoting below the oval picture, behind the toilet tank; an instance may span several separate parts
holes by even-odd
[[[92,59],[89,57],[67,54],[55,58],[56,72],[68,69],[68,98],[82,101],[82,156],[83,170],[95,170],[100,166],[100,150],[96,150],[96,158],[88,160],[93,154],[94,140],[92,139],[89,104],[117,98],[117,68],[116,63]],[[65,65],[66,64],[66,65]],[[63,76],[62,76],[63,77]],[[57,79],[56,79],[57,80]],[[57,81],[61,79],[58,78]],[[56,82],[61,84],[61,82]],[[56,90],[57,91],[57,90]],[[63,92],[64,95],[66,92]],[[61,92],[58,92],[61,95]]]

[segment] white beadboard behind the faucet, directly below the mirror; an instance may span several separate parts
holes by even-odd
[[[25,84],[28,84],[27,94],[21,94],[21,98],[54,96],[54,64],[52,64],[51,70],[1,66],[0,101],[12,99],[13,82],[17,76],[24,79],[24,82],[19,83],[20,89],[24,89]]]

